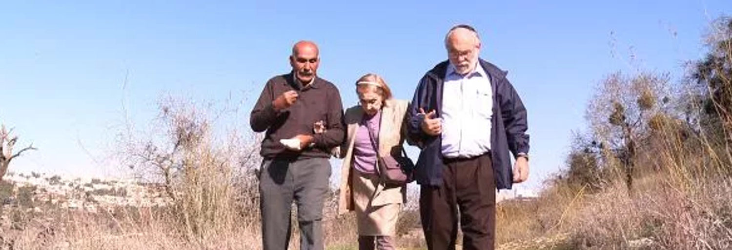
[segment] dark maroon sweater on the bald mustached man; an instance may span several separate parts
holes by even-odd
[[[285,91],[297,91],[294,105],[275,111],[272,101]],[[272,77],[250,115],[255,132],[264,132],[260,154],[266,159],[329,158],[330,148],[343,143],[343,105],[340,93],[333,83],[315,77],[310,86],[302,87],[292,73]],[[324,121],[326,132],[313,135],[313,124]],[[280,143],[296,135],[313,135],[313,147],[291,151]]]

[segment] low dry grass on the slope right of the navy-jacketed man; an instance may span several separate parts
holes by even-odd
[[[497,242],[503,249],[732,249],[732,181],[673,180],[647,175],[632,194],[622,180],[583,195],[554,186],[537,200],[502,202]]]

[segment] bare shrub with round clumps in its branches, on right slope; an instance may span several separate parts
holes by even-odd
[[[602,81],[587,108],[592,136],[603,145],[602,160],[619,170],[628,190],[635,178],[638,147],[649,137],[651,118],[671,108],[668,80],[668,74],[614,73]]]

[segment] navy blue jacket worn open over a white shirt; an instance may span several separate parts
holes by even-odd
[[[488,74],[493,90],[493,116],[491,118],[490,153],[497,189],[511,189],[513,173],[509,151],[529,154],[529,135],[526,121],[526,108],[523,107],[518,93],[506,79],[507,72],[498,69],[488,61],[479,59],[480,65]],[[442,184],[441,137],[430,136],[422,131],[422,117],[419,108],[430,112],[435,110],[439,117],[442,107],[442,85],[449,61],[437,64],[419,80],[414,98],[407,110],[408,139],[411,144],[422,149],[414,170],[414,178],[421,185],[440,186]]]

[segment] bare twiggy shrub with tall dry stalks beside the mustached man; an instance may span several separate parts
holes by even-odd
[[[130,168],[141,180],[163,185],[173,200],[169,211],[180,225],[173,228],[201,243],[258,221],[258,137],[236,128],[217,136],[225,124],[216,121],[236,110],[213,106],[163,99],[150,131],[120,136]]]

